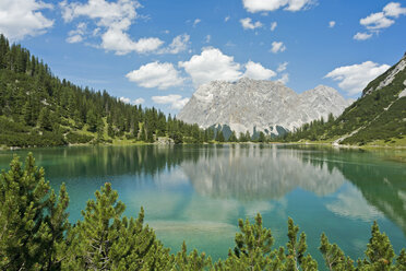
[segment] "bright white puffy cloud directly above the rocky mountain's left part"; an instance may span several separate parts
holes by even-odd
[[[241,66],[234,57],[211,47],[203,48],[201,55],[192,56],[189,61],[179,62],[179,67],[192,78],[194,86],[213,80],[236,81],[241,76]]]

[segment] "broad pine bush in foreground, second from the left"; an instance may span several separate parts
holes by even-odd
[[[110,184],[95,193],[68,237],[71,246],[64,270],[166,270],[169,250],[143,226],[144,210],[136,220],[121,217],[126,207]]]

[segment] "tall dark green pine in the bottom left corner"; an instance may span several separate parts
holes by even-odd
[[[19,157],[0,176],[0,269],[58,270],[65,245],[69,198],[59,198],[45,180],[44,168],[28,154],[23,168]]]

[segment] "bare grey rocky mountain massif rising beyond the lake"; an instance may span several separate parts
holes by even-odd
[[[202,128],[227,125],[237,134],[255,129],[277,136],[277,126],[292,131],[330,113],[338,116],[350,103],[324,85],[297,94],[280,82],[244,78],[201,85],[177,117]]]

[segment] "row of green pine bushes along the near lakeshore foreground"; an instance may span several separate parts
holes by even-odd
[[[319,250],[325,266],[307,254],[306,234],[288,220],[287,244],[273,248],[271,229],[262,217],[239,220],[236,246],[225,260],[213,263],[204,252],[188,254],[183,243],[174,255],[154,231],[138,219],[122,215],[126,205],[105,184],[82,211],[83,220],[70,224],[69,196],[59,195],[45,179],[43,168],[28,154],[25,166],[14,157],[0,175],[1,270],[406,270],[406,250],[396,256],[389,237],[373,223],[365,258],[357,263],[322,234]]]

